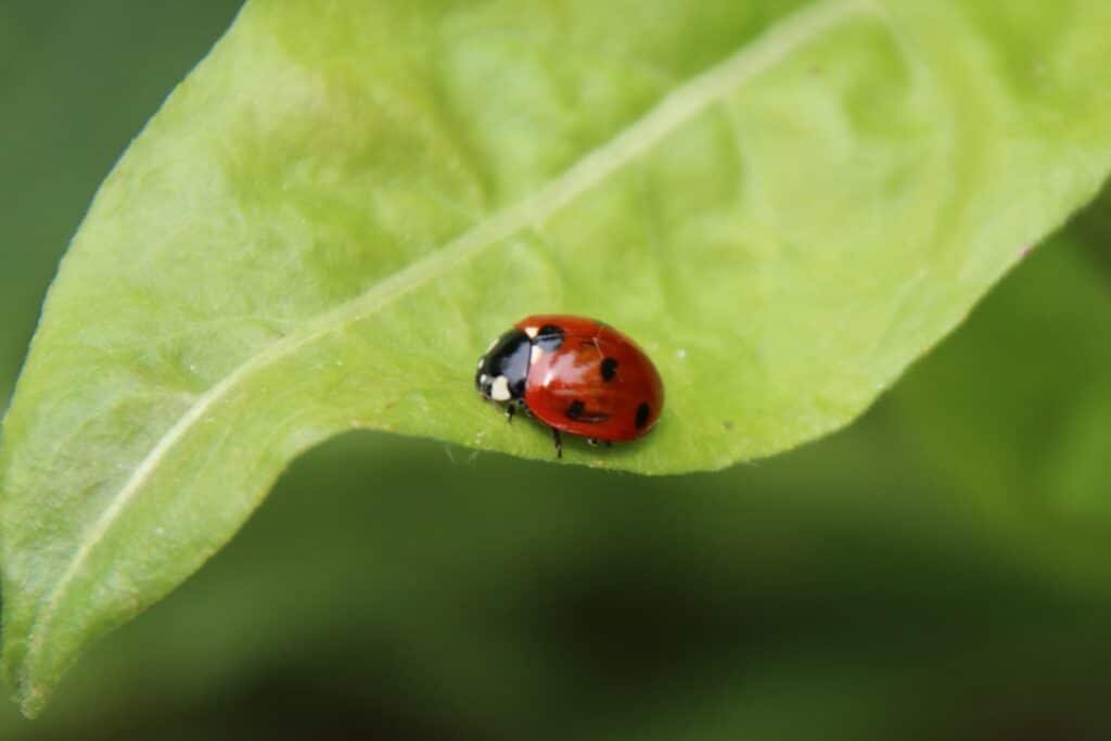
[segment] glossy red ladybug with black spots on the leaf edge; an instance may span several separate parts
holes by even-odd
[[[474,388],[552,430],[591,444],[635,440],[663,409],[663,383],[644,351],[609,324],[569,314],[526,317],[479,358]]]

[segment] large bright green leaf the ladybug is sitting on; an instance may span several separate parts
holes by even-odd
[[[90,641],[356,428],[550,459],[471,390],[592,314],[664,473],[845,424],[1111,168],[1101,0],[252,3],[104,182],[4,420],[3,664]]]

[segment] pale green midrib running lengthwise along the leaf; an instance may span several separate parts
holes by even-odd
[[[178,442],[191,430],[197,429],[202,421],[212,419],[212,408],[226,397],[233,395],[244,379],[301,347],[339,332],[379,311],[409,291],[456,269],[461,261],[492,246],[504,243],[512,234],[538,228],[568,203],[581,198],[589,189],[634,158],[658,146],[691,119],[711,106],[737,94],[745,82],[774,67],[799,47],[862,11],[877,12],[877,7],[870,0],[832,0],[810,6],[777,23],[749,47],[675,88],[640,120],[588,153],[543,188],[491,214],[470,231],[448,242],[442,249],[429,252],[364,293],[318,316],[300,330],[262,348],[223,380],[197,397],[193,404],[159,438],[147,457],[136,467],[131,478],[120,488],[119,493],[112,498],[97,521],[82,533],[80,545],[73,552],[69,565],[59,577],[54,588],[43,594],[39,602],[39,619],[28,637],[24,662],[34,661],[36,654],[41,651],[42,642],[50,635],[49,628],[58,605],[117,518],[139,495],[148,479],[154,474],[162,460]]]

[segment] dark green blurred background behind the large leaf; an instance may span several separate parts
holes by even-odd
[[[0,3],[0,399],[238,4]],[[754,464],[337,440],[0,738],[1111,738],[1109,237],[1104,197],[855,424]]]

